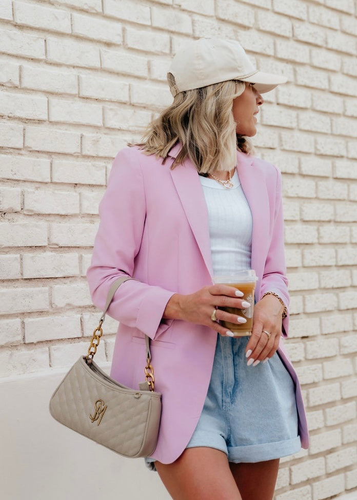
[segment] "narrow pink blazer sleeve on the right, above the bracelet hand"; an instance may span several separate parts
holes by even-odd
[[[275,167],[276,188],[275,188],[275,210],[272,221],[272,233],[270,246],[264,267],[262,278],[261,297],[266,292],[275,292],[280,296],[287,307],[287,316],[283,319],[282,334],[288,336],[289,328],[289,293],[288,278],[286,276],[285,249],[284,249],[284,215],[282,199],[282,176]]]

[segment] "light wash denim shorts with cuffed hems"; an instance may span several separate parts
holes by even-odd
[[[248,340],[217,334],[205,404],[186,448],[216,448],[234,463],[263,462],[300,450],[292,378],[277,353],[266,363],[247,366]],[[145,458],[153,471],[154,461]]]

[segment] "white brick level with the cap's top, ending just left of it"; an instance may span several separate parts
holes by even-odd
[[[167,33],[146,31],[144,29],[125,29],[126,45],[131,49],[145,52],[170,53],[170,35]]]

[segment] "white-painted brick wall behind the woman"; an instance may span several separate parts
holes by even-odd
[[[237,38],[257,68],[288,77],[264,95],[252,141],[283,173],[286,346],[311,447],[283,460],[275,500],[356,491],[356,2],[0,4],[0,376],[86,351],[98,314],[85,273],[112,159],[171,102],[178,45]],[[110,361],[116,326],[107,318],[98,361]]]

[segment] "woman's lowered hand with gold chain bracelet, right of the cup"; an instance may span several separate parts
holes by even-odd
[[[252,334],[246,347],[248,366],[256,366],[275,354],[282,334],[283,310],[274,295],[265,295],[255,304]],[[270,333],[270,337],[266,332]]]

